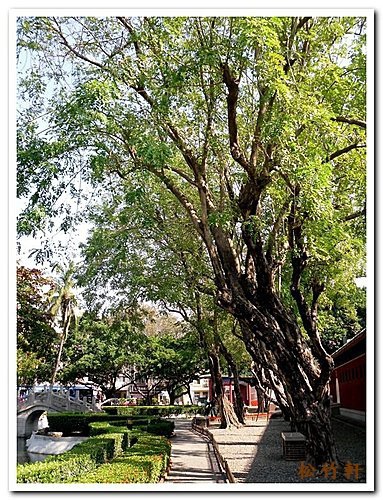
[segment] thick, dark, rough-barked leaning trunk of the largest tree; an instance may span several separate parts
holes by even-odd
[[[313,465],[336,462],[329,411],[332,359],[322,348],[315,329],[317,296],[313,292],[309,310],[299,289],[304,257],[293,263],[291,291],[307,340],[274,289],[272,268],[262,242],[244,231],[253,262],[248,275],[244,275],[238,272],[227,236],[219,228],[212,228],[212,232],[225,282],[218,286],[218,304],[238,320],[254,363],[262,368],[292,424],[306,436],[307,459]]]

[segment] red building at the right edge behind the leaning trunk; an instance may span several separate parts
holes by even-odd
[[[332,355],[334,371],[330,391],[341,413],[365,418],[366,414],[366,330],[362,330]]]

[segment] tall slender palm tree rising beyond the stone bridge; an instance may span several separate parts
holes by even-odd
[[[51,307],[49,310],[60,339],[56,363],[51,377],[51,386],[53,386],[56,381],[56,376],[60,367],[64,344],[66,342],[66,339],[68,338],[70,325],[73,320],[75,321],[75,324],[77,324],[77,320],[79,317],[77,300],[73,291],[73,275],[75,272],[75,266],[73,262],[70,262],[67,270],[64,270],[60,265],[55,265],[54,268],[58,268],[61,271],[62,276],[56,282],[56,286],[52,293]]]

